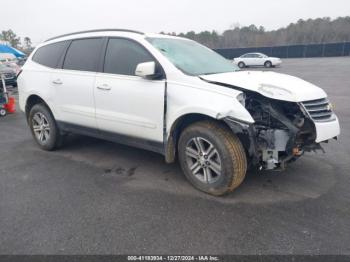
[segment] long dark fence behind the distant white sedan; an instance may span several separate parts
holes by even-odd
[[[264,53],[267,56],[280,58],[350,56],[350,42],[272,47],[225,48],[215,49],[215,51],[227,59],[233,59],[245,53],[252,52]]]

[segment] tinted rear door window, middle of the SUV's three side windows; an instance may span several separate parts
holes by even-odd
[[[72,41],[64,59],[63,68],[95,72],[100,58],[102,42],[102,38]]]

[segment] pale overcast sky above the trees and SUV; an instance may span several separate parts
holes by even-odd
[[[0,30],[34,44],[95,28],[222,32],[237,23],[277,29],[300,18],[346,15],[350,0],[0,0]]]

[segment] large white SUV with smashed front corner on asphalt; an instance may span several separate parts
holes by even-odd
[[[339,123],[326,93],[299,78],[239,71],[188,39],[130,30],[39,45],[18,78],[20,107],[45,150],[79,133],[178,157],[198,189],[222,195],[247,167],[283,169]]]

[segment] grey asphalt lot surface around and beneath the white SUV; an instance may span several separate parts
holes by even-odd
[[[82,136],[44,152],[22,114],[1,118],[0,254],[350,254],[350,58],[283,62],[328,92],[342,135],[221,198],[160,155]]]

